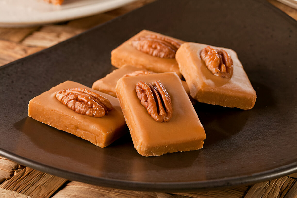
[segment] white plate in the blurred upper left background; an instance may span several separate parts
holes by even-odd
[[[106,12],[136,0],[65,0],[59,5],[43,0],[0,0],[0,26],[25,27],[56,23]]]

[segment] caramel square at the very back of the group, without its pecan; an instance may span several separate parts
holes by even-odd
[[[174,57],[160,58],[158,56],[152,56],[141,50],[138,50],[135,46],[133,46],[134,45],[133,43],[135,43],[136,40],[149,35],[153,35],[158,38],[163,38],[163,40],[164,38],[171,39],[174,42],[177,42],[179,44],[184,43],[184,41],[179,39],[158,34],[153,31],[143,30],[111,52],[111,64],[118,68],[120,68],[123,65],[133,65],[135,67],[147,69],[157,73],[176,72],[176,74],[179,77],[181,77],[181,73],[179,72],[179,69],[178,69],[178,64]],[[162,40],[162,39],[159,39],[159,40]],[[147,43],[146,50],[148,50],[147,48],[149,46],[152,46],[152,45]],[[162,50],[161,47],[160,47],[160,50]],[[152,51],[152,49],[150,51]]]

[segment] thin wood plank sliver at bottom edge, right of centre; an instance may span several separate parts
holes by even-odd
[[[238,186],[226,189],[214,189],[195,193],[175,193],[193,198],[241,198],[248,191],[249,186]]]

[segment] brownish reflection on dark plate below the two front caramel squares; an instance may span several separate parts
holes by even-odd
[[[168,170],[189,167],[199,155],[199,151],[189,151],[168,153],[162,156],[141,156],[134,148],[128,131],[127,134],[111,145],[100,148],[75,135],[55,129],[29,117],[16,122],[14,127],[28,136],[30,143],[37,146],[45,156],[47,153],[51,153],[57,158],[61,158],[61,156],[70,158],[71,161],[94,166],[94,168],[102,166],[104,167],[102,169],[110,172],[116,171],[118,166],[131,167],[126,171],[132,172],[132,175],[135,171],[141,172],[142,170],[155,170],[156,168]],[[30,150],[22,152],[23,156],[40,157],[32,155]],[[117,164],[123,163],[123,161],[127,164]]]

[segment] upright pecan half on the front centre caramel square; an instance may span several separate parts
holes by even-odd
[[[154,82],[154,86],[140,81],[135,89],[140,103],[155,121],[168,122],[172,118],[170,96],[159,80]]]

